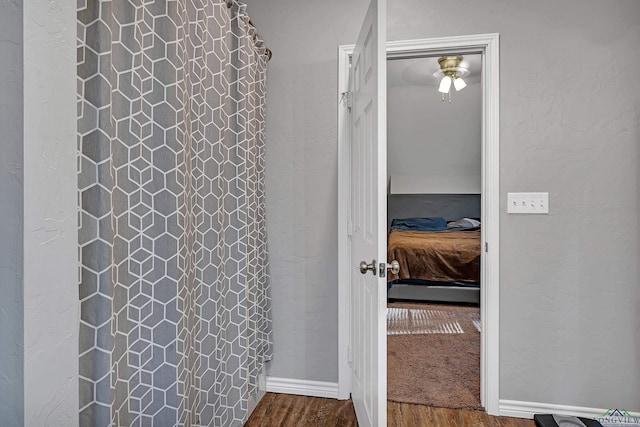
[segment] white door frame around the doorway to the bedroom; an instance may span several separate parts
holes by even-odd
[[[353,45],[338,48],[338,96],[348,91]],[[480,401],[487,413],[499,414],[500,385],[500,79],[499,35],[387,42],[387,58],[419,57],[455,51],[481,53],[482,58],[482,242],[480,261]],[[349,298],[351,262],[347,238],[349,177],[351,176],[349,116],[346,102],[338,105],[338,398],[350,393]]]

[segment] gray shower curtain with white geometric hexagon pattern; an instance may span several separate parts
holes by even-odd
[[[241,3],[79,1],[81,426],[246,421],[271,354],[266,64]]]

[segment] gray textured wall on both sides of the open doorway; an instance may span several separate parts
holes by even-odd
[[[336,381],[336,49],[367,2],[247,3],[274,51],[272,374]],[[500,397],[640,410],[640,2],[388,6],[389,40],[500,33]],[[507,215],[508,191],[550,215]]]

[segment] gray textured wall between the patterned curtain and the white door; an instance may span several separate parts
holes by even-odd
[[[249,1],[274,50],[267,88],[270,375],[338,379],[337,51],[365,1]],[[359,18],[358,18],[359,19]]]

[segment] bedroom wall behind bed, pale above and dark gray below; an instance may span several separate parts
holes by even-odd
[[[431,75],[436,68],[427,73],[423,64],[424,59],[415,58],[389,61],[387,182],[392,180],[390,187],[395,187],[400,178],[410,178],[414,185],[405,191],[441,193],[446,188],[461,192],[474,189],[479,193],[480,72],[473,70],[474,74],[465,79],[467,87],[454,91],[452,102],[443,102],[436,90],[438,81]],[[426,216],[441,216],[447,221],[465,216],[479,218],[480,196],[389,194],[387,197],[389,225],[393,218]]]

